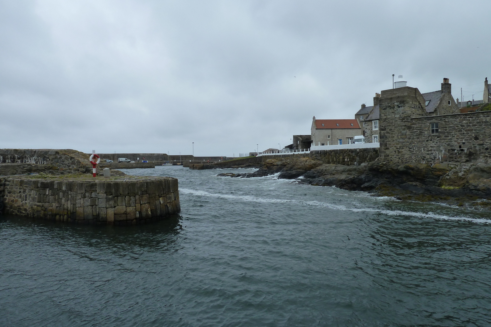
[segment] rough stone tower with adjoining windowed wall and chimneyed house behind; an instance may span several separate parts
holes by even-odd
[[[436,105],[429,105],[432,100]],[[491,111],[460,113],[454,103],[446,78],[440,94],[432,97],[425,98],[417,88],[409,86],[382,91],[380,159],[489,164]]]

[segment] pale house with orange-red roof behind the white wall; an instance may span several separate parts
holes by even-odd
[[[356,119],[312,119],[312,144],[316,146],[352,144],[361,128]]]

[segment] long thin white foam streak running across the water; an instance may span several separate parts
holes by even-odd
[[[209,193],[206,191],[191,190],[191,189],[186,189],[186,188],[179,189],[179,192],[182,192],[185,194],[193,194],[193,195],[197,195],[197,196],[214,197],[214,198],[230,199],[230,200],[242,200],[242,201],[252,201],[252,202],[262,202],[262,203],[294,203],[294,204],[300,204],[300,205],[306,205],[306,206],[326,207],[326,208],[333,209],[333,210],[343,210],[343,211],[353,211],[353,212],[376,212],[376,213],[382,213],[382,214],[388,215],[388,216],[411,216],[411,217],[418,217],[418,218],[464,220],[464,221],[469,221],[469,222],[474,222],[474,223],[491,224],[490,219],[469,218],[469,217],[450,217],[450,216],[445,216],[445,215],[438,215],[438,214],[435,214],[433,212],[423,213],[423,212],[412,212],[412,211],[401,211],[401,210],[384,210],[384,209],[377,209],[377,208],[350,208],[350,207],[347,207],[347,206],[342,205],[342,204],[332,204],[332,203],[320,202],[320,201],[267,199],[267,198],[257,198],[257,197],[249,196],[249,195],[238,196],[238,195],[230,195],[230,194],[215,194],[215,193]]]

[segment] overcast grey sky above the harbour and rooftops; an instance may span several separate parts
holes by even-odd
[[[245,153],[403,75],[482,99],[491,1],[0,0],[0,148]]]

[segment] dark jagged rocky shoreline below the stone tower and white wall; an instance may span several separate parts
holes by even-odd
[[[373,161],[348,166],[301,157],[268,159],[256,167],[259,169],[254,173],[225,173],[218,176],[247,178],[279,173],[278,178],[297,179],[302,184],[336,186],[399,200],[430,201],[491,210],[491,166],[486,165]]]

